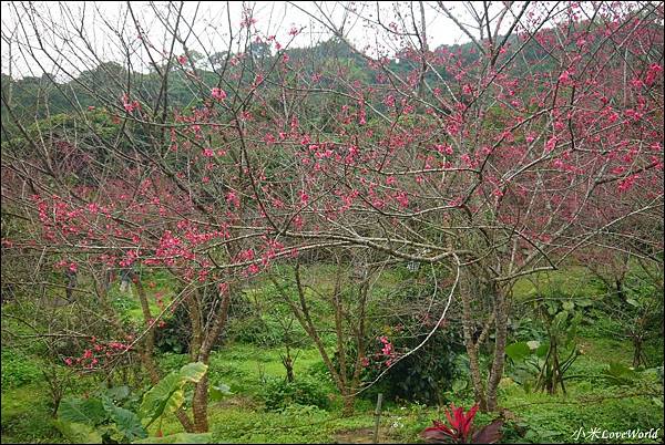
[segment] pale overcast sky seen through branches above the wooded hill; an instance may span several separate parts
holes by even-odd
[[[349,40],[358,49],[365,46],[372,49],[381,48],[387,54],[393,53],[393,49],[399,44],[386,45],[387,33],[377,32],[376,27],[369,27],[370,23],[365,19],[376,20],[376,2],[295,2],[296,4],[276,1],[255,1],[255,2],[185,2],[183,17],[187,22],[193,23],[193,33],[187,39],[190,50],[201,51],[203,48],[209,52],[223,51],[227,48],[229,31],[235,34],[241,30],[243,21],[243,9],[249,8],[256,19],[256,29],[265,35],[276,35],[276,40],[286,44],[291,37],[288,34],[293,27],[303,28],[303,32],[294,39],[291,46],[308,46],[320,40],[327,40],[330,37],[329,31],[316,19],[324,17],[339,25],[346,22],[344,28]],[[402,1],[399,3],[399,12],[402,17],[410,17],[410,8],[416,8],[417,19],[419,21],[418,2]],[[457,2],[446,2],[454,11],[456,15],[462,22],[470,22],[469,11]],[[500,3],[500,2],[494,2]],[[175,4],[175,6],[174,6]],[[168,8],[166,2],[149,3],[132,2],[134,14],[142,23],[149,40],[158,49],[168,50],[170,39],[165,33],[163,22],[158,14],[165,18],[171,13],[170,21],[173,21],[173,13],[180,3],[172,3]],[[386,24],[391,21],[399,21],[392,3],[381,2],[379,15]],[[463,43],[468,37],[450,19],[444,18],[442,13],[434,10],[434,2],[424,2],[426,22],[428,31],[428,42],[431,49],[441,44]],[[10,68],[10,40],[18,40],[19,44],[11,45],[11,74],[14,77],[24,75],[41,75],[42,69],[53,72],[53,61],[38,48],[38,39],[34,29],[42,34],[42,43],[49,55],[55,58],[58,63],[68,65],[73,72],[94,66],[96,63],[91,56],[96,53],[103,61],[122,61],[124,49],[119,44],[120,39],[113,34],[111,29],[121,30],[126,39],[133,40],[136,45],[135,70],[144,70],[146,65],[141,66],[142,60],[145,61],[145,53],[141,50],[140,42],[136,41],[136,30],[129,14],[125,2],[82,2],[70,1],[61,4],[60,2],[33,2],[33,14],[27,14],[25,9],[30,8],[28,3],[2,1],[2,72],[9,73]],[[318,8],[317,8],[318,6]],[[346,7],[346,8],[345,8]],[[356,12],[350,11],[356,9]],[[477,8],[482,10],[482,6]],[[31,22],[28,15],[38,17],[35,22]],[[92,45],[89,50],[82,51],[82,40],[75,35],[75,27],[83,19],[83,32],[85,40]],[[195,18],[195,20],[194,20]],[[346,18],[346,21],[345,21]],[[410,19],[409,19],[410,21]],[[181,28],[182,30],[183,28]],[[200,39],[194,38],[196,34]],[[37,63],[28,54],[29,45],[38,54]],[[175,53],[182,53],[182,46],[176,45]],[[58,55],[61,54],[61,55]],[[40,66],[41,65],[41,66]]]

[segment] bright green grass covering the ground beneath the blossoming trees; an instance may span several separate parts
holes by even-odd
[[[288,270],[282,272],[289,273]],[[332,286],[329,266],[317,265],[307,268],[304,271],[305,276],[323,291],[329,290]],[[377,290],[391,289],[398,286],[399,281],[398,273],[387,273],[381,277]],[[155,286],[150,286],[150,282],[154,282]],[[151,310],[156,314],[158,308],[154,302],[154,293],[161,291],[164,296],[163,300],[167,302],[173,296],[174,283],[164,273],[145,276],[144,283]],[[255,281],[246,292],[247,298],[267,303],[270,297],[265,291],[268,283],[265,278]],[[545,292],[556,290],[561,294],[579,298],[596,298],[602,293],[597,283],[583,268],[572,267],[565,271],[540,273],[531,280],[519,280],[514,288],[515,299],[518,301],[532,299],[535,297],[536,286]],[[115,288],[114,291],[119,293]],[[135,290],[133,298],[121,294],[116,297],[120,297],[119,303],[122,304],[127,318],[135,322],[143,320]],[[327,317],[326,312],[321,313]],[[583,354],[566,374],[574,376],[566,381],[567,394],[526,393],[522,386],[510,380],[502,384],[500,404],[509,411],[503,442],[571,442],[573,433],[580,428],[647,431],[651,427],[663,427],[663,396],[662,391],[658,394],[654,390],[657,386],[654,382],[641,381],[633,386],[611,386],[606,379],[602,377],[610,361],[618,361],[626,365],[632,361],[631,342],[612,334],[614,321],[604,322],[606,325],[603,329],[589,323],[580,329],[577,340]],[[648,343],[646,350],[653,352],[655,364],[662,364],[662,339],[654,344]],[[45,382],[43,377],[33,373],[41,363],[40,351],[31,349],[21,352],[17,355],[3,351],[3,359],[7,355],[13,363],[6,365],[3,361],[3,374],[6,370],[14,374],[8,374],[7,377],[7,381],[12,383],[2,385],[2,443],[62,443],[62,436],[51,423],[51,406]],[[283,348],[260,348],[246,343],[227,343],[213,352],[208,368],[211,384],[227,384],[234,393],[222,402],[209,404],[208,421],[213,441],[217,443],[370,442],[375,401],[358,397],[356,414],[351,417],[342,417],[341,397],[337,394],[330,377],[321,371],[325,366],[318,351],[311,344],[291,352],[298,354],[295,361],[295,376],[296,380],[316,379],[330,400],[328,408],[290,405],[282,411],[268,411],[264,407],[262,394],[266,381],[280,379],[286,374],[280,359],[283,352]],[[168,371],[187,363],[188,356],[162,354],[158,361],[162,369]],[[25,375],[22,375],[21,370],[25,371]],[[3,382],[4,380],[3,375]],[[81,377],[75,392],[92,390],[95,385],[94,379]],[[458,394],[447,393],[447,399],[466,407],[473,403],[469,389]],[[381,441],[422,442],[419,433],[430,426],[434,418],[444,418],[442,407],[385,402],[380,422]],[[475,423],[482,425],[492,420],[492,415],[480,413]],[[154,434],[158,427],[164,434],[182,432],[180,423],[173,416],[165,417],[161,425],[151,426],[151,433]]]

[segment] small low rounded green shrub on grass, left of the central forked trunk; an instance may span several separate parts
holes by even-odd
[[[311,379],[298,379],[294,382],[270,379],[262,395],[268,410],[282,410],[291,404],[326,408],[329,404],[328,396],[320,384]]]

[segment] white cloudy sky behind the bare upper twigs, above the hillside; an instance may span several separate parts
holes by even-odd
[[[469,38],[452,20],[444,17],[436,2],[423,2],[428,43],[431,50],[441,44],[464,43]],[[493,2],[491,10],[501,2]],[[446,2],[463,24],[473,23],[473,12],[482,11],[482,2],[464,6]],[[142,42],[133,17],[154,48],[153,59],[160,63],[171,50],[172,32],[178,2],[7,2],[2,8],[2,73],[13,77],[41,76],[45,71],[66,79],[81,71],[94,69],[100,62],[115,61],[131,65],[132,70],[145,72],[151,68],[150,58]],[[244,51],[243,39],[247,32],[241,23],[244,11],[250,10],[256,22],[253,30],[264,37],[275,35],[282,45],[313,46],[328,40],[332,34],[326,27],[342,30],[349,42],[369,55],[393,56],[405,46],[417,46],[413,35],[397,37],[389,32],[391,23],[412,30],[420,25],[419,2],[184,2],[180,37],[190,51],[213,54],[228,50]],[[133,12],[133,17],[132,17]],[[324,22],[324,23],[321,23]],[[510,22],[510,21],[508,21]],[[293,28],[303,31],[295,38]],[[472,30],[473,31],[473,30]],[[480,38],[480,32],[473,32]],[[39,34],[39,35],[38,35]],[[291,41],[293,40],[293,41]],[[275,48],[273,46],[273,53]],[[161,53],[161,54],[160,54]],[[174,54],[183,54],[182,42],[174,45]],[[63,72],[54,68],[61,65]]]

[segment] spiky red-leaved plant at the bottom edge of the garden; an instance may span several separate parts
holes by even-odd
[[[493,444],[501,438],[501,425],[503,422],[494,421],[479,431],[473,428],[473,417],[478,412],[478,404],[464,413],[461,406],[450,405],[446,410],[448,425],[441,421],[433,421],[434,426],[424,428],[422,437],[430,443],[457,443],[457,444]]]

